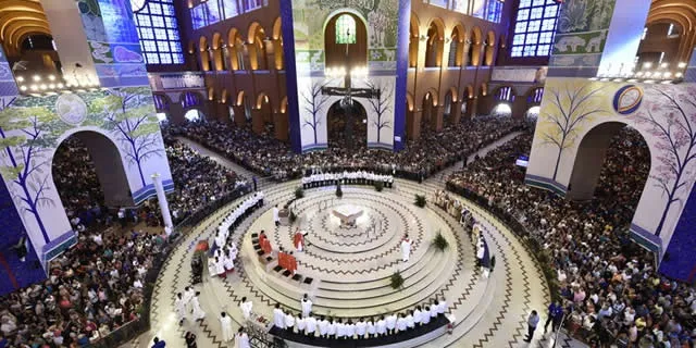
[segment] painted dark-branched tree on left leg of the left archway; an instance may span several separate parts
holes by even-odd
[[[10,191],[22,219],[34,217],[44,240],[49,243],[40,214],[42,208],[55,206],[46,195],[53,184],[49,153],[70,126],[47,108],[8,105],[0,111],[0,156],[3,157],[0,171],[9,185],[14,186]]]

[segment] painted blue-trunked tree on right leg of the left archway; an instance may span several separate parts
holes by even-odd
[[[137,166],[145,187],[142,164],[152,157],[164,156],[152,95],[142,87],[112,89],[108,96],[95,100],[90,111],[104,113],[103,127],[121,142],[121,151],[129,165]]]

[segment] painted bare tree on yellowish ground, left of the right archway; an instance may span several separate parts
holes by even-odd
[[[547,89],[550,98],[542,110],[539,130],[543,145],[558,148],[554,167],[556,181],[563,151],[575,144],[582,130],[581,125],[593,116],[607,114],[608,111],[598,107],[601,104],[599,92],[602,87],[593,84],[584,84],[581,87],[567,84],[558,87],[548,86]]]

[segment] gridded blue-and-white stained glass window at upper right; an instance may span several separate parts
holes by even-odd
[[[556,35],[556,0],[520,0],[510,55],[548,57]]]

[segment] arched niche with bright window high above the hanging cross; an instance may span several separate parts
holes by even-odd
[[[350,25],[355,24],[355,32],[350,33]],[[344,29],[344,33],[337,30]],[[348,57],[346,45],[349,44]],[[326,67],[337,66],[368,66],[368,25],[366,22],[350,11],[339,11],[328,17],[324,25],[324,57]]]

